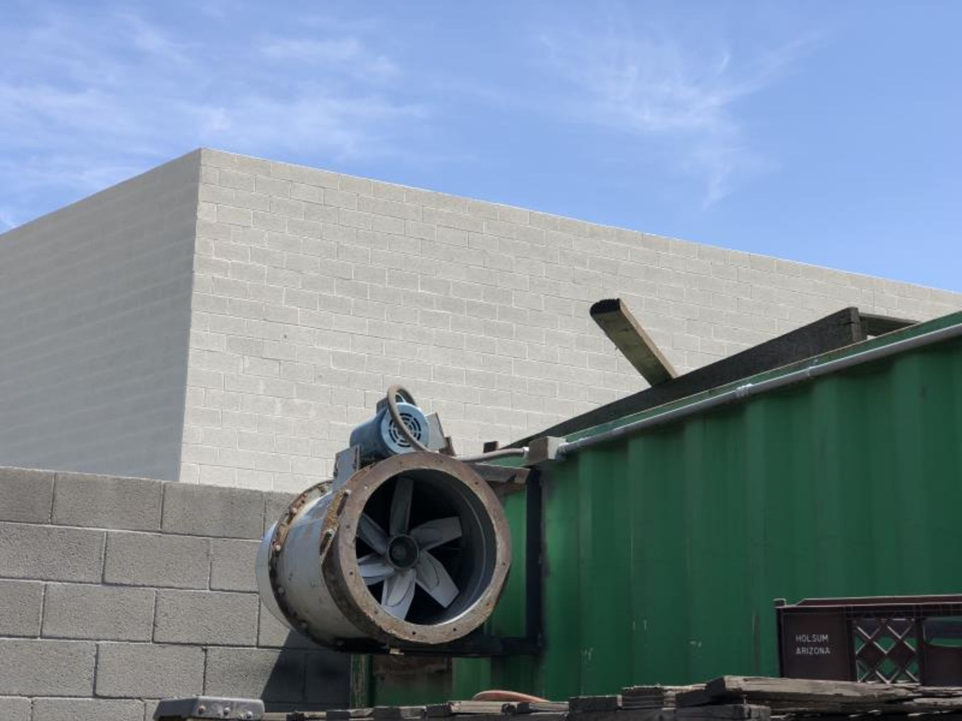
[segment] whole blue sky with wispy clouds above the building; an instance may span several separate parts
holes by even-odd
[[[0,17],[0,231],[207,146],[962,290],[952,0]]]

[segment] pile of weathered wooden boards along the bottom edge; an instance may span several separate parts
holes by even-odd
[[[909,715],[911,714],[911,719]],[[962,721],[962,687],[722,676],[707,684],[629,686],[620,694],[576,696],[567,702],[449,701],[445,704],[326,712],[268,713],[273,721],[793,721],[802,717],[869,721]],[[470,719],[464,718],[470,716]]]

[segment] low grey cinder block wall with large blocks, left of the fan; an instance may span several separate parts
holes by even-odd
[[[343,708],[347,657],[256,594],[256,539],[289,500],[0,468],[0,719],[142,721],[200,693]]]

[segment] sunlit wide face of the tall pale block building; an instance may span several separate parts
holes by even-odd
[[[300,490],[401,382],[459,451],[645,386],[620,296],[679,370],[855,305],[962,295],[204,150],[180,479]]]

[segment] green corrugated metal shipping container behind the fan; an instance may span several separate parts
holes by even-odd
[[[748,381],[954,333],[943,329],[962,330],[962,313]],[[777,675],[773,599],[962,592],[960,416],[956,334],[548,463],[543,654],[455,659],[419,680],[417,698],[410,680],[378,675],[368,702],[470,698],[491,687],[566,699]],[[515,571],[489,631],[520,635],[523,497],[509,498],[508,512]]]

